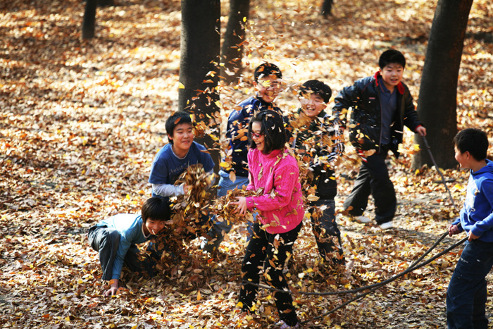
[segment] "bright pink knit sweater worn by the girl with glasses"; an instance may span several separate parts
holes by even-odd
[[[304,209],[296,159],[286,150],[263,154],[258,149],[248,152],[250,182],[246,190],[263,187],[263,195],[247,197],[249,210],[257,209],[266,231],[272,234],[293,230],[303,221]]]

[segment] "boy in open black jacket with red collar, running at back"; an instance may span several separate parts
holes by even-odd
[[[404,85],[402,74],[406,58],[400,51],[384,51],[378,61],[380,69],[373,77],[365,77],[342,89],[335,98],[333,111],[342,112],[352,108],[349,124],[349,138],[363,164],[344,209],[349,216],[360,223],[368,223],[363,216],[368,197],[375,200],[375,221],[382,230],[392,228],[397,200],[394,185],[389,178],[385,163],[389,150],[396,156],[402,142],[404,125],[421,136],[426,129],[418,120],[413,97]]]

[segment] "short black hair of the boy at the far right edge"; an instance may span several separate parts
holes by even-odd
[[[486,159],[488,137],[482,130],[475,128],[461,130],[454,137],[454,144],[461,153],[469,152],[476,161]]]

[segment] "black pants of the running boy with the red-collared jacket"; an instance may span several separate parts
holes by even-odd
[[[368,197],[373,195],[375,201],[375,221],[378,224],[392,221],[397,208],[394,184],[389,178],[385,158],[389,148],[382,145],[380,153],[368,156],[359,168],[353,190],[344,201],[344,209],[349,209],[352,216],[361,216],[368,206]]]

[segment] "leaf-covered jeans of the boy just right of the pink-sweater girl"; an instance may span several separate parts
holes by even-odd
[[[326,261],[344,263],[341,232],[335,221],[335,200],[318,199],[311,202],[310,206],[318,208],[325,206],[325,209],[320,209],[322,212],[320,217],[318,217],[316,209],[311,211],[311,227],[317,242],[318,254]],[[337,238],[338,245],[335,244],[335,238]]]

